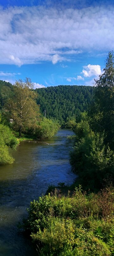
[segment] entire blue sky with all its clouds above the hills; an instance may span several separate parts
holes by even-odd
[[[113,0],[0,0],[0,79],[92,85],[113,32]]]

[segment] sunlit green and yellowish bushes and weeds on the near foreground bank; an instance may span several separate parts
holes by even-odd
[[[71,197],[48,194],[31,202],[24,229],[40,255],[113,256],[113,212],[113,187],[87,196],[79,186]]]

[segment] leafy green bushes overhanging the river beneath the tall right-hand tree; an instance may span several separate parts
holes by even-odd
[[[76,125],[76,142],[70,162],[85,189],[100,189],[104,179],[114,179],[114,153],[104,144],[104,133],[94,133],[87,121]]]

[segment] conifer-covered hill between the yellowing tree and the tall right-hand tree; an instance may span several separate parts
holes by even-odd
[[[93,87],[60,85],[35,89],[38,92],[37,104],[46,117],[54,117],[62,123],[76,118],[76,115],[88,108],[92,102]]]

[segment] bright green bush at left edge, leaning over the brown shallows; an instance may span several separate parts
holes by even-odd
[[[0,164],[14,162],[14,159],[9,154],[9,147],[16,150],[18,143],[9,127],[0,124]]]

